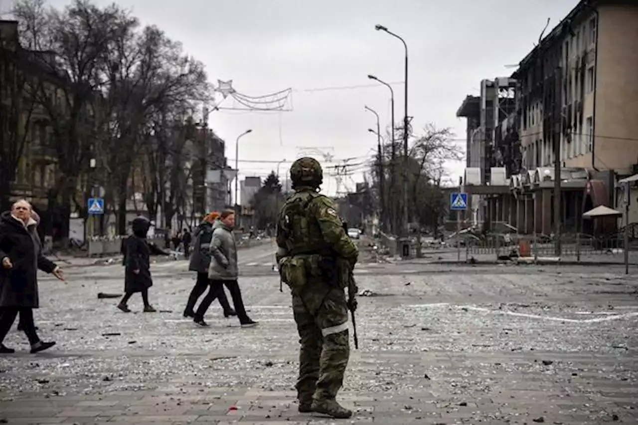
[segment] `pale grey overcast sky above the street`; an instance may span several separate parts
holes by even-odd
[[[2,0],[7,1],[7,0]],[[69,3],[50,0],[53,6]],[[95,0],[107,5],[112,0]],[[372,73],[394,85],[396,119],[403,117],[403,45],[375,31],[383,24],[410,49],[409,115],[415,133],[426,123],[450,127],[463,143],[465,123],[456,110],[466,94],[479,94],[483,78],[508,76],[533,48],[551,18],[551,27],[577,0],[118,0],[144,24],[155,24],[203,61],[212,82],[233,80],[247,96],[292,88],[291,112],[211,114],[211,127],[226,140],[235,159],[235,138],[251,128],[239,149],[240,173],[268,174],[276,163],[294,160],[297,147],[319,147],[334,160],[362,163],[376,148],[367,128],[389,124],[387,87],[367,79]],[[366,86],[320,90],[326,87]],[[228,98],[221,107],[233,107]],[[314,156],[318,156],[315,153]],[[320,157],[319,157],[320,158]],[[288,164],[289,165],[289,164]],[[330,163],[330,165],[335,165]],[[361,167],[350,168],[361,171]],[[450,164],[450,174],[463,163]],[[284,164],[281,174],[288,172]],[[328,171],[330,172],[330,171]],[[355,180],[361,175],[353,176]],[[353,181],[346,178],[353,189]],[[324,190],[334,193],[328,179]]]

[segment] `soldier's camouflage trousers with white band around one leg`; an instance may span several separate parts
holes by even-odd
[[[308,286],[313,290],[292,296],[301,344],[297,398],[302,403],[334,399],[350,357],[345,293],[323,282]]]

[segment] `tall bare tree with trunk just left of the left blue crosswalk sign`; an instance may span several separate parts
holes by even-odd
[[[100,59],[125,23],[116,6],[100,9],[84,0],[62,11],[46,10],[41,0],[24,0],[15,15],[22,22],[26,45],[37,51],[38,66],[48,77],[31,87],[31,96],[52,128],[59,179],[51,188],[49,213],[57,216],[59,235],[66,236],[71,201],[99,132],[93,106],[105,84]],[[84,202],[75,199],[75,204]]]

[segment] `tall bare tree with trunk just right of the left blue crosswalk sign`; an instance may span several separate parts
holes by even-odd
[[[108,137],[100,145],[105,167],[118,193],[117,227],[126,231],[126,201],[131,171],[142,144],[150,140],[158,111],[184,105],[207,96],[204,66],[182,54],[181,45],[169,40],[157,27],[122,31],[102,59],[108,75],[105,88]]]

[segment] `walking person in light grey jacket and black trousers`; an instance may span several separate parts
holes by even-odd
[[[237,312],[237,318],[242,327],[252,327],[257,324],[248,317],[242,301],[241,290],[237,277],[239,276],[239,267],[237,264],[237,244],[235,244],[235,236],[232,230],[235,226],[235,213],[232,210],[226,210],[219,216],[219,220],[215,221],[212,230],[212,239],[209,251],[211,253],[211,264],[208,269],[208,277],[211,280],[211,288],[216,292],[209,298],[207,294],[199,308],[195,312],[193,321],[201,326],[207,326],[204,322],[206,310],[211,302],[218,297],[219,291],[223,290],[225,285],[230,292]]]

